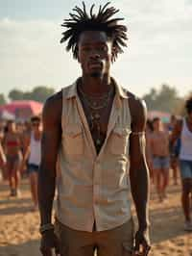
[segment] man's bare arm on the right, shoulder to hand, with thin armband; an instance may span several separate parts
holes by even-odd
[[[147,255],[149,250],[149,169],[145,157],[145,125],[147,119],[146,105],[143,101],[131,97],[132,134],[130,139],[130,178],[132,198],[138,218],[138,231],[135,235],[135,250],[140,245]]]

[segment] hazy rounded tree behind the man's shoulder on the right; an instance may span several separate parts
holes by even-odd
[[[166,84],[163,84],[160,90],[152,89],[143,96],[150,111],[157,110],[169,113],[175,113],[180,103],[178,91]]]

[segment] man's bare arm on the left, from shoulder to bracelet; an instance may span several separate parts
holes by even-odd
[[[41,140],[41,162],[38,175],[40,224],[51,223],[55,195],[56,163],[61,137],[61,92],[49,98],[44,106]]]

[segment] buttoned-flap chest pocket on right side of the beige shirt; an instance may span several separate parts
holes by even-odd
[[[131,130],[129,128],[114,128],[110,138],[110,151],[112,154],[125,155],[128,153],[130,134]]]

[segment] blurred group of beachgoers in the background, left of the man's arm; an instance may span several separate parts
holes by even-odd
[[[33,210],[37,210],[37,171],[40,163],[41,141],[40,116],[32,116],[30,121],[0,122],[0,168],[1,179],[8,180],[9,196],[21,196],[21,178],[28,176]]]

